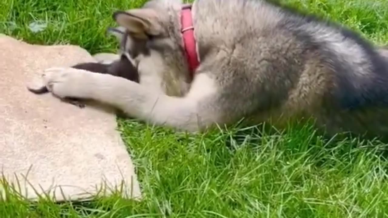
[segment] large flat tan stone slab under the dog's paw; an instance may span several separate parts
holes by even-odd
[[[124,197],[140,197],[112,109],[80,109],[26,88],[45,68],[92,56],[78,46],[29,45],[5,35],[0,48],[0,173],[6,180],[16,185],[17,177],[19,192],[31,199],[34,189],[62,201],[93,196],[103,184],[109,194],[122,183]]]

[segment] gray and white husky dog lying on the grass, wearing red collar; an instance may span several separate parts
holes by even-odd
[[[314,118],[328,135],[388,135],[388,51],[355,31],[265,0],[150,0],[113,17],[140,83],[54,67],[50,92],[177,130]]]

